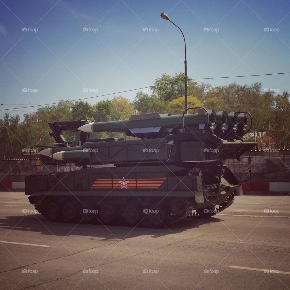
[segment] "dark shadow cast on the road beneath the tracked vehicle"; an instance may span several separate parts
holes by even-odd
[[[121,227],[101,224],[72,224],[65,222],[51,222],[43,218],[40,214],[25,216],[8,216],[0,218],[0,228],[6,230],[20,230],[39,232],[43,235],[87,236],[92,240],[119,240],[129,237],[146,236],[153,238],[170,234],[182,233],[188,229],[207,227],[213,223],[223,221],[219,217],[211,218],[183,218],[159,229],[143,227]]]

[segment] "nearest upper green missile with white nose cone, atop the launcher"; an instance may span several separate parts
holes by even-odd
[[[187,114],[184,115],[184,126],[214,125],[215,116],[214,112],[205,114],[202,110],[198,114]],[[85,124],[79,127],[78,130],[88,133],[126,132],[128,129],[152,127],[181,129],[183,127],[182,115],[160,116],[158,113],[132,115],[127,120]]]

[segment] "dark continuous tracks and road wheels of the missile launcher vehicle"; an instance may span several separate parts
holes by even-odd
[[[172,200],[172,197],[43,195],[33,197],[31,203],[50,221],[147,228],[165,227],[187,217],[211,217],[233,203],[232,198],[220,204],[218,211],[199,210],[193,214],[194,198],[183,198],[179,208],[173,210]]]

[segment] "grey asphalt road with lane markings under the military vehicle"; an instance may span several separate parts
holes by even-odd
[[[33,209],[0,192],[0,289],[290,289],[290,196],[236,197],[164,229],[53,223]]]

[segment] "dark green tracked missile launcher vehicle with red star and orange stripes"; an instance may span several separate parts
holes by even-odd
[[[158,228],[223,211],[243,194],[241,180],[224,163],[240,161],[256,146],[243,141],[252,117],[189,109],[196,113],[49,123],[56,143],[38,146],[41,163],[73,162],[80,170],[27,176],[25,194],[50,221],[69,223]],[[80,132],[78,146],[65,140],[63,130]],[[96,139],[93,132],[125,135]]]

